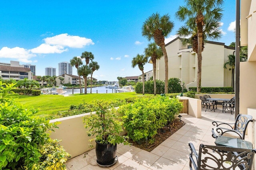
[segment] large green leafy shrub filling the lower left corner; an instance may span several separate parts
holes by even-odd
[[[52,140],[46,131],[57,128],[58,123],[50,124],[45,118],[34,117],[37,110],[6,98],[12,85],[2,85],[0,82],[0,169],[46,169],[40,166],[44,161],[40,151]],[[66,160],[62,157],[69,154],[64,151],[54,154],[54,161],[48,164],[54,165],[61,158],[59,164],[64,167]]]

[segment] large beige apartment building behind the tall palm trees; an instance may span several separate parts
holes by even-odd
[[[227,56],[233,54],[234,47],[224,43],[208,41],[202,52],[202,87],[232,86],[232,71],[223,68],[228,60]],[[168,77],[179,78],[186,88],[196,87],[197,55],[190,46],[182,46],[180,39],[166,44],[168,55]],[[164,57],[156,61],[156,79],[164,80]]]

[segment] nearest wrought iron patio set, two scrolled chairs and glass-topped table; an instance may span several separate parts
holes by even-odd
[[[252,143],[244,141],[251,121],[251,115],[242,114],[234,123],[213,121],[216,127],[212,129],[212,137],[216,138],[216,146],[201,144],[196,152],[194,145],[189,143],[190,170],[251,170],[256,149],[252,149]]]

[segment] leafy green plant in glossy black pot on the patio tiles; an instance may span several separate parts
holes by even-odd
[[[94,102],[95,113],[84,117],[87,135],[94,136],[96,142],[97,163],[101,167],[113,166],[118,160],[116,148],[119,143],[128,143],[128,137],[120,136],[122,121],[118,120],[117,110],[112,107],[110,101],[96,100]]]

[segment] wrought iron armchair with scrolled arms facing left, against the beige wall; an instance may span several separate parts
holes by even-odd
[[[251,115],[242,114],[237,115],[235,123],[213,121],[212,125],[216,125],[216,127],[212,128],[212,137],[217,138],[219,135],[224,135],[244,139],[246,128],[250,121],[252,122]]]

